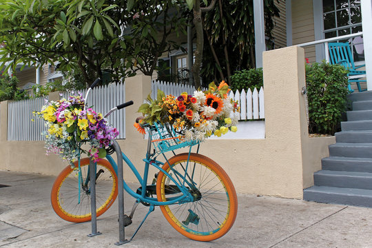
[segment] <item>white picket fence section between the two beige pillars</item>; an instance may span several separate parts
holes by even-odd
[[[162,90],[165,94],[172,94],[179,96],[182,92],[192,94],[195,91],[195,87],[191,85],[178,85],[176,83],[167,83],[163,81],[152,81],[152,99],[156,99],[156,94],[159,90]],[[206,89],[203,89],[206,90]],[[230,91],[229,94],[231,99],[238,101],[240,106],[240,120],[257,120],[265,118],[265,104],[264,104],[264,90],[263,87],[258,91],[256,88],[253,92],[248,89],[247,92],[242,90],[238,92]]]

